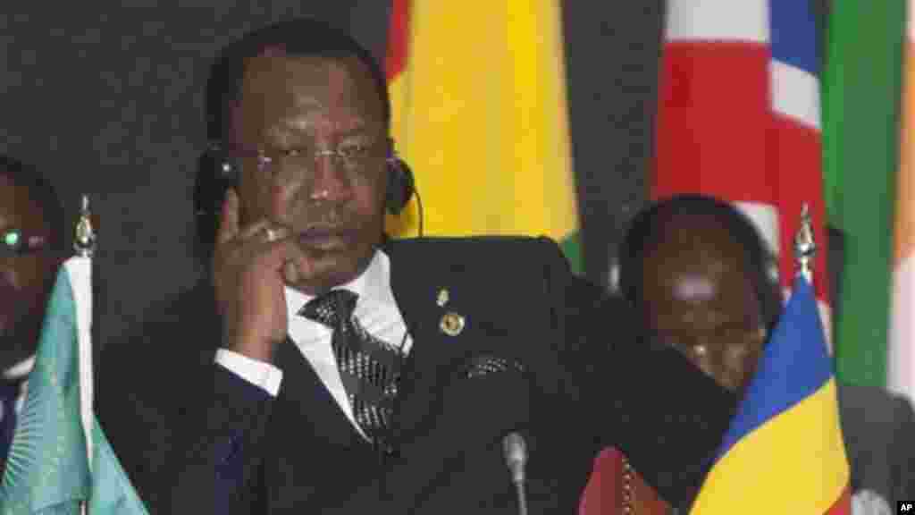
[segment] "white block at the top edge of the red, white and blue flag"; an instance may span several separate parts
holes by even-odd
[[[768,0],[669,0],[668,41],[769,41]]]

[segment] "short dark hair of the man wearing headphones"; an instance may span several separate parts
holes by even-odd
[[[371,52],[344,30],[316,19],[297,18],[249,32],[221,50],[210,67],[207,81],[207,136],[210,141],[221,141],[227,134],[231,123],[229,106],[241,98],[248,60],[264,55],[270,49],[282,49],[287,55],[359,60],[371,75],[382,101],[384,126],[389,126],[391,99],[387,82]]]

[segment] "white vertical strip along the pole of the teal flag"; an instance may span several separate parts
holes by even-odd
[[[70,257],[65,263],[76,307],[76,334],[80,357],[80,416],[92,470],[92,260]]]

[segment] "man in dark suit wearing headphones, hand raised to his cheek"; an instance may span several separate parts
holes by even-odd
[[[736,399],[637,344],[554,242],[385,241],[407,188],[365,49],[289,22],[210,85],[217,173],[239,174],[211,282],[102,356],[102,424],[153,512],[514,513],[511,432],[533,513],[574,512],[607,444],[694,494]]]

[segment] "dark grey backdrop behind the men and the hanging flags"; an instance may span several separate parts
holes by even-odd
[[[585,265],[605,283],[621,229],[645,199],[662,5],[564,4]],[[190,192],[216,50],[247,29],[311,15],[349,25],[381,56],[389,9],[380,0],[0,6],[0,152],[45,170],[69,220],[79,194],[91,194],[102,221],[100,344],[196,279]]]

